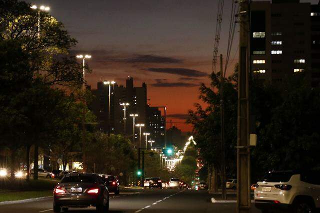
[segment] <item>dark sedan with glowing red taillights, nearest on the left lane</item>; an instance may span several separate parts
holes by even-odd
[[[53,212],[73,207],[95,207],[99,213],[108,211],[109,193],[100,176],[69,173],[61,179],[53,190]]]

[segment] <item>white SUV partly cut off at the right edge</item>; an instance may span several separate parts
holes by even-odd
[[[271,209],[313,213],[320,208],[320,171],[268,172],[254,190],[254,205],[262,213]]]

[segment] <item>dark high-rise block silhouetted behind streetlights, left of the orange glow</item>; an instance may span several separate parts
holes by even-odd
[[[133,86],[133,78],[126,79],[125,87],[114,84],[110,87],[110,132],[115,134],[124,133],[124,111],[120,103],[129,103],[126,107],[126,134],[133,133],[133,119],[129,115],[138,114],[135,124],[146,121],[146,84],[141,87]],[[94,98],[91,110],[97,118],[97,128],[101,132],[108,131],[108,85],[103,82],[97,83],[97,89],[91,90]],[[137,136],[136,136],[137,137]]]

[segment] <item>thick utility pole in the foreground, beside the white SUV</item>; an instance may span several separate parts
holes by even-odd
[[[236,212],[250,213],[249,148],[249,0],[239,1],[239,66],[237,110],[237,198]]]

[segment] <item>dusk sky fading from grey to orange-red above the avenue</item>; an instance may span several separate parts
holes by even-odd
[[[101,80],[124,84],[131,76],[134,86],[146,82],[151,106],[167,106],[167,121],[183,122],[187,110],[199,102],[199,83],[209,83],[217,0],[28,2],[50,6],[50,14],[77,39],[73,50],[92,55],[88,60],[92,73],[86,75],[91,88],[96,88],[96,82]],[[219,45],[223,55],[230,7],[231,0],[225,0]],[[236,32],[228,71],[237,61],[237,41]],[[182,131],[191,131],[186,124],[172,124]]]

